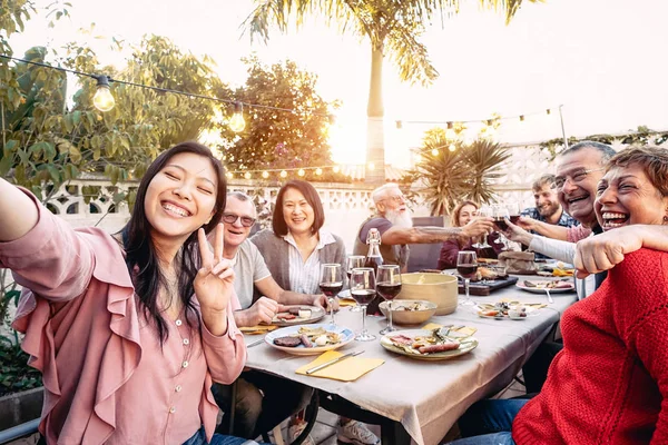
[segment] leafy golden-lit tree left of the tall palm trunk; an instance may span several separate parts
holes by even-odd
[[[332,109],[316,90],[317,77],[293,61],[263,65],[256,57],[244,59],[248,77],[234,92],[237,101],[273,108],[245,109],[246,128],[235,134],[224,126],[224,160],[230,170],[266,170],[332,165],[327,142]],[[278,109],[294,110],[294,112]],[[253,171],[254,178],[259,171]],[[293,172],[294,177],[296,172]],[[325,169],[321,175],[307,170],[307,180],[345,180]]]

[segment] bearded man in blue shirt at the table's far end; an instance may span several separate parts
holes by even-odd
[[[536,207],[524,209],[521,214],[522,216],[562,227],[572,227],[579,224],[559,204],[554,175],[548,174],[541,176],[531,185],[531,189],[533,190]],[[534,234],[533,230],[531,233]],[[548,257],[537,253],[536,258]]]

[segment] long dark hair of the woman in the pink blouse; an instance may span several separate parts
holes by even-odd
[[[148,319],[153,319],[158,328],[160,344],[164,344],[167,339],[168,329],[165,319],[160,315],[160,308],[158,307],[158,291],[160,286],[165,286],[165,288],[168,287],[167,279],[159,266],[156,246],[150,237],[151,225],[146,218],[144,204],[146,200],[146,191],[153,178],[165,167],[171,157],[184,152],[195,154],[207,158],[216,171],[216,176],[218,177],[218,189],[216,191],[215,214],[210,221],[204,226],[204,230],[208,234],[216,227],[225,210],[225,199],[227,195],[225,169],[207,147],[198,142],[189,141],[179,144],[169,150],[164,151],[148,167],[146,175],[141,178],[139,188],[137,189],[137,200],[135,201],[132,216],[121,230],[122,244],[127,254],[126,263],[130,277],[132,277],[135,291],[141,301],[145,315]],[[195,326],[193,326],[191,319],[197,320],[196,328],[197,332],[199,332],[199,317],[197,316],[195,305],[190,300],[190,297],[195,293],[193,281],[195,280],[195,276],[197,275],[200,265],[199,249],[197,248],[197,231],[190,234],[186,239],[181,246],[179,256],[180,257],[177,257],[177,260],[180,260],[179,269],[177,270],[179,298],[186,309],[186,323],[193,328]]]

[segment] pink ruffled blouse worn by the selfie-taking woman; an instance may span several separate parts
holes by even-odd
[[[246,362],[236,295],[225,335],[204,324],[200,334],[191,330],[181,314],[160,347],[116,240],[72,229],[26,194],[39,221],[0,243],[0,267],[24,288],[13,327],[43,375],[39,429],[48,443],[183,444],[202,425],[210,441],[218,413],[212,380],[234,382]]]

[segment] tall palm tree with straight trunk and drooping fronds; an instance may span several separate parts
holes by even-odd
[[[504,10],[507,22],[522,4],[522,0],[478,1],[482,7]],[[460,0],[256,0],[255,10],[244,26],[250,36],[258,34],[266,42],[272,24],[285,32],[291,18],[299,27],[307,16],[320,14],[342,32],[352,31],[369,40],[371,83],[366,108],[366,181],[382,182],[385,176],[383,61],[390,57],[403,81],[424,86],[433,82],[439,72],[429,59],[426,47],[418,38],[424,32],[424,23],[436,14],[442,20],[444,16],[456,13],[459,4]],[[370,169],[371,162],[380,168]]]

